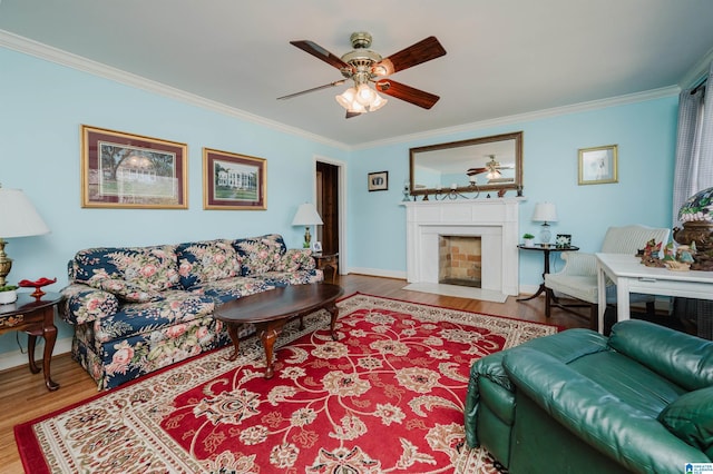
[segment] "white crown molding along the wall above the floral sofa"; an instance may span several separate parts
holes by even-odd
[[[66,66],[79,71],[88,72],[92,76],[102,77],[105,79],[113,80],[115,82],[123,83],[125,86],[143,89],[148,92],[157,93],[170,99],[179,100],[192,106],[201,107],[204,109],[213,110],[215,112],[235,117],[242,120],[246,120],[253,124],[258,124],[277,131],[282,131],[290,135],[306,138],[309,140],[318,141],[323,145],[339,148],[342,150],[350,150],[350,147],[341,141],[331,140],[320,135],[311,134],[296,127],[290,127],[279,121],[268,120],[264,117],[256,116],[254,113],[246,112],[235,107],[228,107],[224,103],[216,102],[215,100],[206,99],[205,97],[189,93],[180,89],[167,86],[162,82],[157,82],[150,79],[146,79],[141,76],[137,76],[127,71],[123,71],[117,68],[113,68],[107,65],[94,61],[91,59],[84,58],[71,52],[64,51],[51,46],[30,40],[19,34],[11,33],[6,30],[0,30],[0,47],[11,49],[25,55],[33,56],[46,61],[55,62],[60,66]]]

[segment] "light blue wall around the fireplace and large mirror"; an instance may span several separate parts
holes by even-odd
[[[384,274],[406,273],[406,209],[399,203],[409,174],[409,148],[518,130],[524,131],[527,198],[520,206],[520,234],[539,235],[539,225],[529,218],[535,204],[545,200],[556,204],[559,216],[553,236],[572,234],[573,244],[585,251],[600,247],[608,226],[668,227],[677,105],[677,97],[671,96],[355,151],[350,165],[350,263]],[[618,145],[618,182],[578,186],[578,149],[603,145]],[[389,191],[368,192],[367,174],[384,169]],[[520,255],[521,286],[539,285],[541,258],[537,253]],[[559,265],[558,259],[554,269]]]

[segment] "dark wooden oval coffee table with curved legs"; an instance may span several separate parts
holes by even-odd
[[[309,285],[290,285],[284,288],[275,288],[255,295],[244,296],[233,302],[225,303],[215,309],[214,316],[227,325],[227,334],[233,340],[234,350],[228,357],[235,361],[240,354],[237,328],[241,324],[252,323],[257,329],[257,335],[265,348],[265,378],[272,378],[273,346],[280,332],[294,317],[302,317],[318,309],[326,309],[332,315],[330,329],[332,338],[336,340],[334,325],[339,316],[336,298],[344,290],[338,285],[325,283]]]

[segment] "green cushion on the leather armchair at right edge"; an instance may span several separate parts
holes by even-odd
[[[713,458],[713,387],[682,395],[658,415],[676,437]]]

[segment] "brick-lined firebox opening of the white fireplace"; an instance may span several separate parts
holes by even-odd
[[[439,236],[438,283],[481,287],[482,250],[480,237]]]

